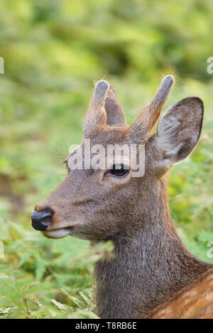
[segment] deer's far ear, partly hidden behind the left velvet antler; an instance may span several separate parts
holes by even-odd
[[[107,125],[109,126],[126,125],[124,111],[121,108],[119,100],[116,97],[114,88],[112,86],[110,86],[107,98],[105,100],[105,110],[107,112]]]

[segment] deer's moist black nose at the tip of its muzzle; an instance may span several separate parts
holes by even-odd
[[[47,230],[53,219],[53,215],[53,210],[50,208],[44,208],[40,212],[33,210],[31,215],[33,228],[41,231]]]

